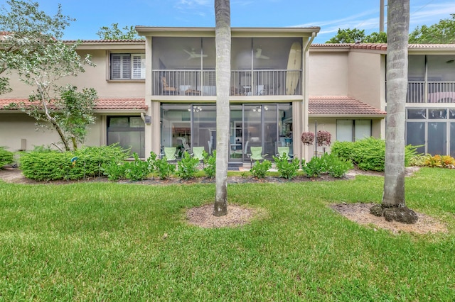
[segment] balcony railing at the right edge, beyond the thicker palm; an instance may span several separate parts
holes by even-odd
[[[455,82],[408,82],[407,103],[455,103]]]

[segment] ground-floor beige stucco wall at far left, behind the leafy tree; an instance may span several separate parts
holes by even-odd
[[[84,145],[99,146],[102,144],[101,133],[105,128],[104,119],[97,116],[97,122],[90,125]],[[21,139],[26,140],[26,150],[35,146],[49,146],[60,142],[55,130],[38,128],[35,119],[23,113],[1,114],[0,116],[0,146],[8,147],[9,151],[21,150]]]

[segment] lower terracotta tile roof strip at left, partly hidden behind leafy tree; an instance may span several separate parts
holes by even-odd
[[[27,103],[28,99],[0,99],[0,111],[6,110],[4,107],[10,104],[11,102],[24,102]],[[97,110],[147,110],[147,105],[145,104],[145,99],[98,99],[95,106],[95,111]]]

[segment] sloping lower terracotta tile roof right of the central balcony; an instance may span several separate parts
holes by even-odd
[[[385,116],[387,113],[348,96],[310,96],[309,115]]]

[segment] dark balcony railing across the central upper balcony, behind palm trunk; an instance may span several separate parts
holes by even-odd
[[[154,70],[154,95],[215,96],[213,70]],[[290,83],[293,82],[291,85]],[[231,96],[301,95],[301,70],[232,70]]]

